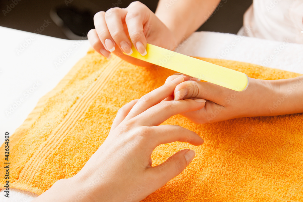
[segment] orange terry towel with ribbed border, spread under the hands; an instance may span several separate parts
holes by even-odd
[[[300,76],[236,61],[203,60],[252,78]],[[107,137],[118,109],[174,73],[88,51],[10,137],[10,187],[42,194],[57,180],[77,174]],[[302,123],[302,114],[202,125],[176,115],[164,124],[195,131],[205,142],[158,146],[152,154],[154,166],[186,148],[195,150],[196,157],[143,201],[303,201]],[[3,165],[3,155],[0,161]],[[0,176],[4,172],[2,168]],[[0,188],[4,184],[2,177]]]

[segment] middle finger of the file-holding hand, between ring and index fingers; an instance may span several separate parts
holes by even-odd
[[[132,44],[129,41],[123,27],[122,20],[125,20],[127,11],[122,8],[111,8],[105,13],[105,22],[108,30],[119,48],[127,55],[132,54]]]

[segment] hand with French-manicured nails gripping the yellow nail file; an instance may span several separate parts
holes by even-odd
[[[127,8],[98,12],[94,24],[95,29],[88,32],[88,40],[106,58],[113,52],[135,65],[148,66],[151,64],[122,53],[132,54],[131,41],[141,55],[146,55],[146,43],[170,50],[177,45],[173,33],[141,2],[132,2]]]

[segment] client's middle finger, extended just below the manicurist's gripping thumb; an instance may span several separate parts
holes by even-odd
[[[203,108],[205,100],[203,99],[186,99],[163,101],[146,111],[134,117],[134,121],[144,126],[157,126],[165,120],[176,114],[185,113],[188,111],[196,111]]]

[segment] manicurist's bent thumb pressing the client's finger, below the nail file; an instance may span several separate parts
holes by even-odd
[[[185,81],[174,91],[175,100],[188,98],[202,98],[224,105],[224,99],[235,91],[209,82]]]

